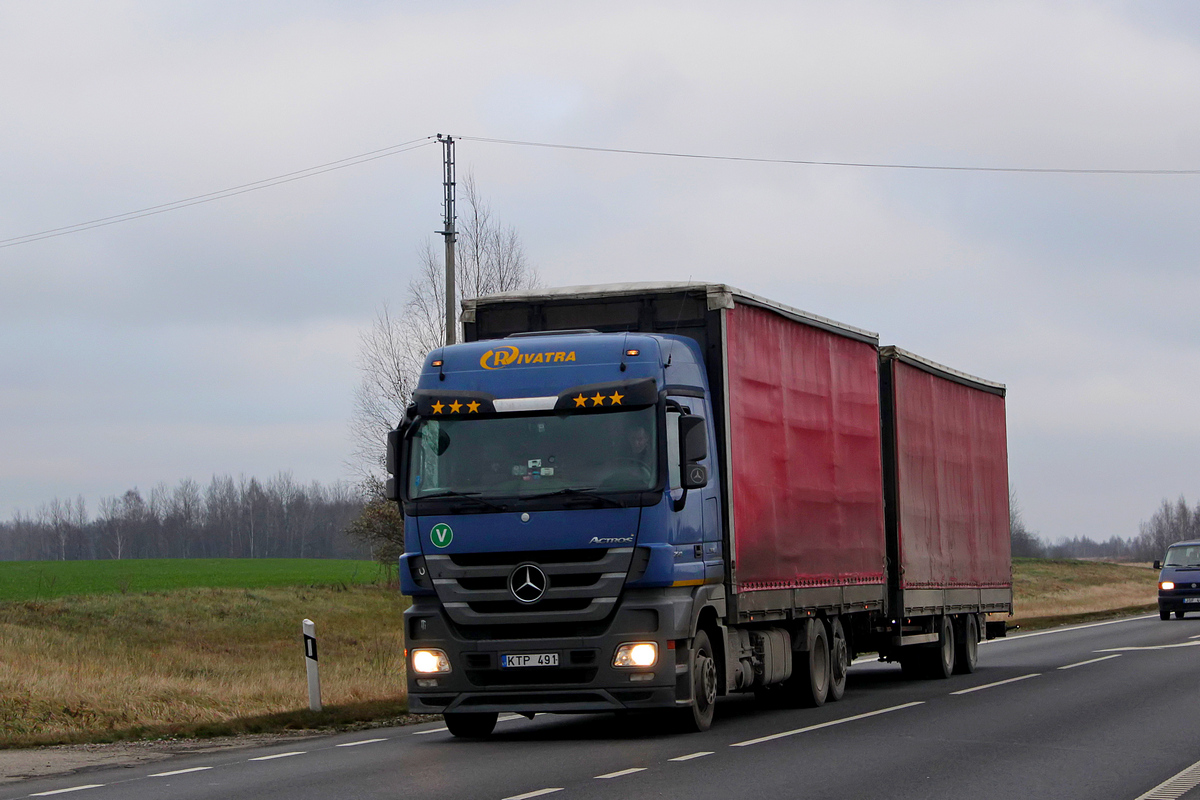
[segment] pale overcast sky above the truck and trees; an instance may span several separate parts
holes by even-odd
[[[0,240],[434,133],[1200,169],[1194,2],[4,2]],[[462,142],[545,283],[731,283],[1008,385],[1044,537],[1200,500],[1200,175],[769,166]],[[0,247],[0,518],[350,477],[359,333],[440,149]],[[438,240],[439,241],[439,240]]]

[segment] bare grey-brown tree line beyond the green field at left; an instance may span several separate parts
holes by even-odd
[[[95,516],[83,497],[18,512],[0,523],[0,560],[368,558],[349,535],[362,507],[348,485],[302,485],[290,473],[220,475],[204,488],[184,479],[102,498]]]

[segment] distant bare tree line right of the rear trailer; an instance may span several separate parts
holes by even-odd
[[[1200,540],[1200,503],[1195,507],[1180,497],[1176,501],[1164,499],[1158,510],[1139,527],[1132,539],[1112,536],[1108,541],[1096,541],[1076,536],[1050,543],[1031,531],[1015,498],[1009,501],[1009,521],[1013,535],[1013,555],[1025,558],[1074,558],[1104,559],[1109,561],[1153,561],[1163,558],[1168,546]]]

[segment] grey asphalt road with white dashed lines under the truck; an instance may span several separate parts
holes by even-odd
[[[737,697],[716,714],[703,734],[614,715],[502,717],[486,741],[390,728],[26,781],[0,800],[1200,800],[1200,618],[1015,636],[949,680],[864,662],[823,708]]]

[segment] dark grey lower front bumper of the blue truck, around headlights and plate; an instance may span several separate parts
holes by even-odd
[[[433,597],[414,597],[404,612],[408,652],[443,650],[451,672],[408,672],[413,712],[586,712],[686,706],[691,703],[689,648],[696,590],[626,591],[601,624],[462,628]],[[617,648],[654,642],[653,667],[613,667]],[[510,654],[557,654],[557,667],[502,667]],[[409,656],[410,661],[410,656]]]

